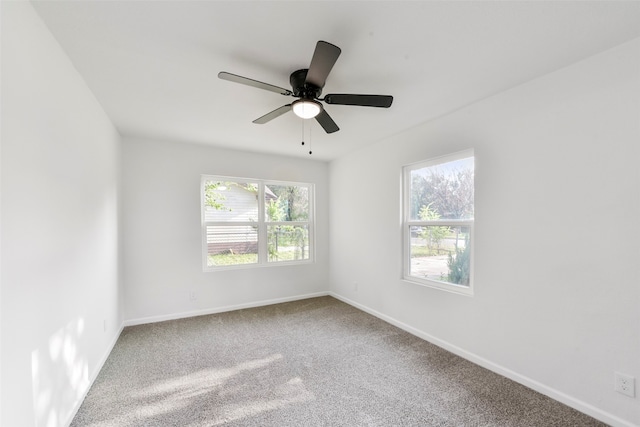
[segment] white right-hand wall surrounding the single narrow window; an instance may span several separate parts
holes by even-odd
[[[402,166],[467,148],[474,297],[400,280]],[[615,393],[613,373],[640,379],[639,160],[635,40],[332,162],[331,289],[600,419],[638,425],[640,400]]]

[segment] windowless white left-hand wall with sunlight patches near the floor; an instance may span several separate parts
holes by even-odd
[[[120,137],[31,4],[1,3],[0,424],[56,427],[122,324]]]

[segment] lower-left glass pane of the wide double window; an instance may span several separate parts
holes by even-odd
[[[245,226],[207,226],[207,266],[258,262],[258,229]]]

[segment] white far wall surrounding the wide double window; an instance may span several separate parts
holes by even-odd
[[[128,138],[122,168],[127,324],[328,291],[326,162]],[[202,174],[315,184],[316,263],[203,272]],[[196,293],[195,301],[190,292]]]

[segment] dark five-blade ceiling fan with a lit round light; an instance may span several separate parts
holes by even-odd
[[[334,46],[331,43],[327,43],[322,40],[319,41],[316,44],[316,50],[311,58],[309,68],[304,68],[291,73],[289,82],[291,83],[291,88],[293,90],[284,89],[268,83],[249,79],[247,77],[227,73],[225,71],[218,73],[218,77],[230,82],[241,83],[247,86],[257,87],[258,89],[279,93],[280,95],[298,98],[291,104],[283,105],[282,107],[276,108],[270,113],[255,119],[253,123],[265,124],[276,117],[293,110],[293,112],[300,118],[315,118],[327,133],[333,133],[340,130],[340,128],[336,125],[319,101],[323,101],[327,104],[382,108],[389,108],[393,102],[393,96],[391,95],[354,95],[333,93],[325,95],[324,98],[320,98],[327,76],[329,75],[329,72],[331,72],[333,65],[338,60],[340,52],[341,50],[338,46]]]

